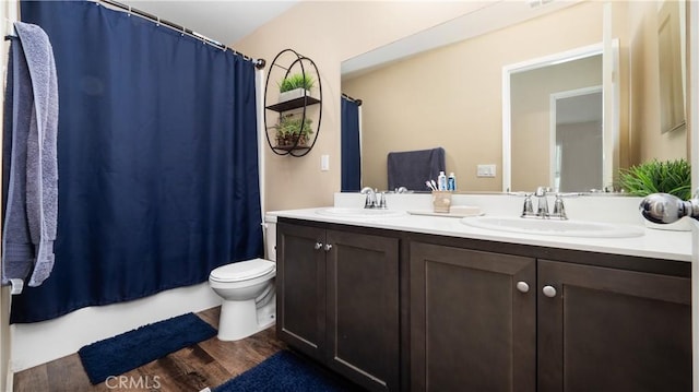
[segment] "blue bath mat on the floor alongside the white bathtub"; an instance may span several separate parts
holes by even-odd
[[[216,335],[216,330],[193,313],[140,326],[82,347],[78,354],[90,382],[98,384]]]

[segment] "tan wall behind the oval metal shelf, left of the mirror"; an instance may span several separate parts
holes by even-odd
[[[482,7],[478,2],[303,1],[234,47],[271,61],[293,48],[311,58],[323,90],[322,124],[313,150],[295,158],[265,149],[269,211],[330,205],[340,190],[340,64],[401,37]],[[380,23],[377,23],[380,21]],[[330,170],[320,171],[320,156]]]

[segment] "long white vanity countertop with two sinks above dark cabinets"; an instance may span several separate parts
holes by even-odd
[[[265,221],[276,222],[276,217],[288,217],[351,226],[691,262],[691,231],[660,230],[639,225],[644,229],[644,235],[640,237],[559,237],[482,229],[466,226],[460,223],[461,219],[457,217],[406,214],[399,217],[362,219],[327,216],[317,213],[318,210],[324,209],[329,207],[270,212],[265,215]]]

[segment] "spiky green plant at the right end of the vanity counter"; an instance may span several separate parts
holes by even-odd
[[[633,195],[670,193],[682,200],[691,199],[691,167],[686,159],[649,161],[619,170],[619,185]]]

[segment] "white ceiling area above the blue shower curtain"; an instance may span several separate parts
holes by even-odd
[[[232,46],[298,0],[118,0],[154,16],[197,32],[206,38]]]

